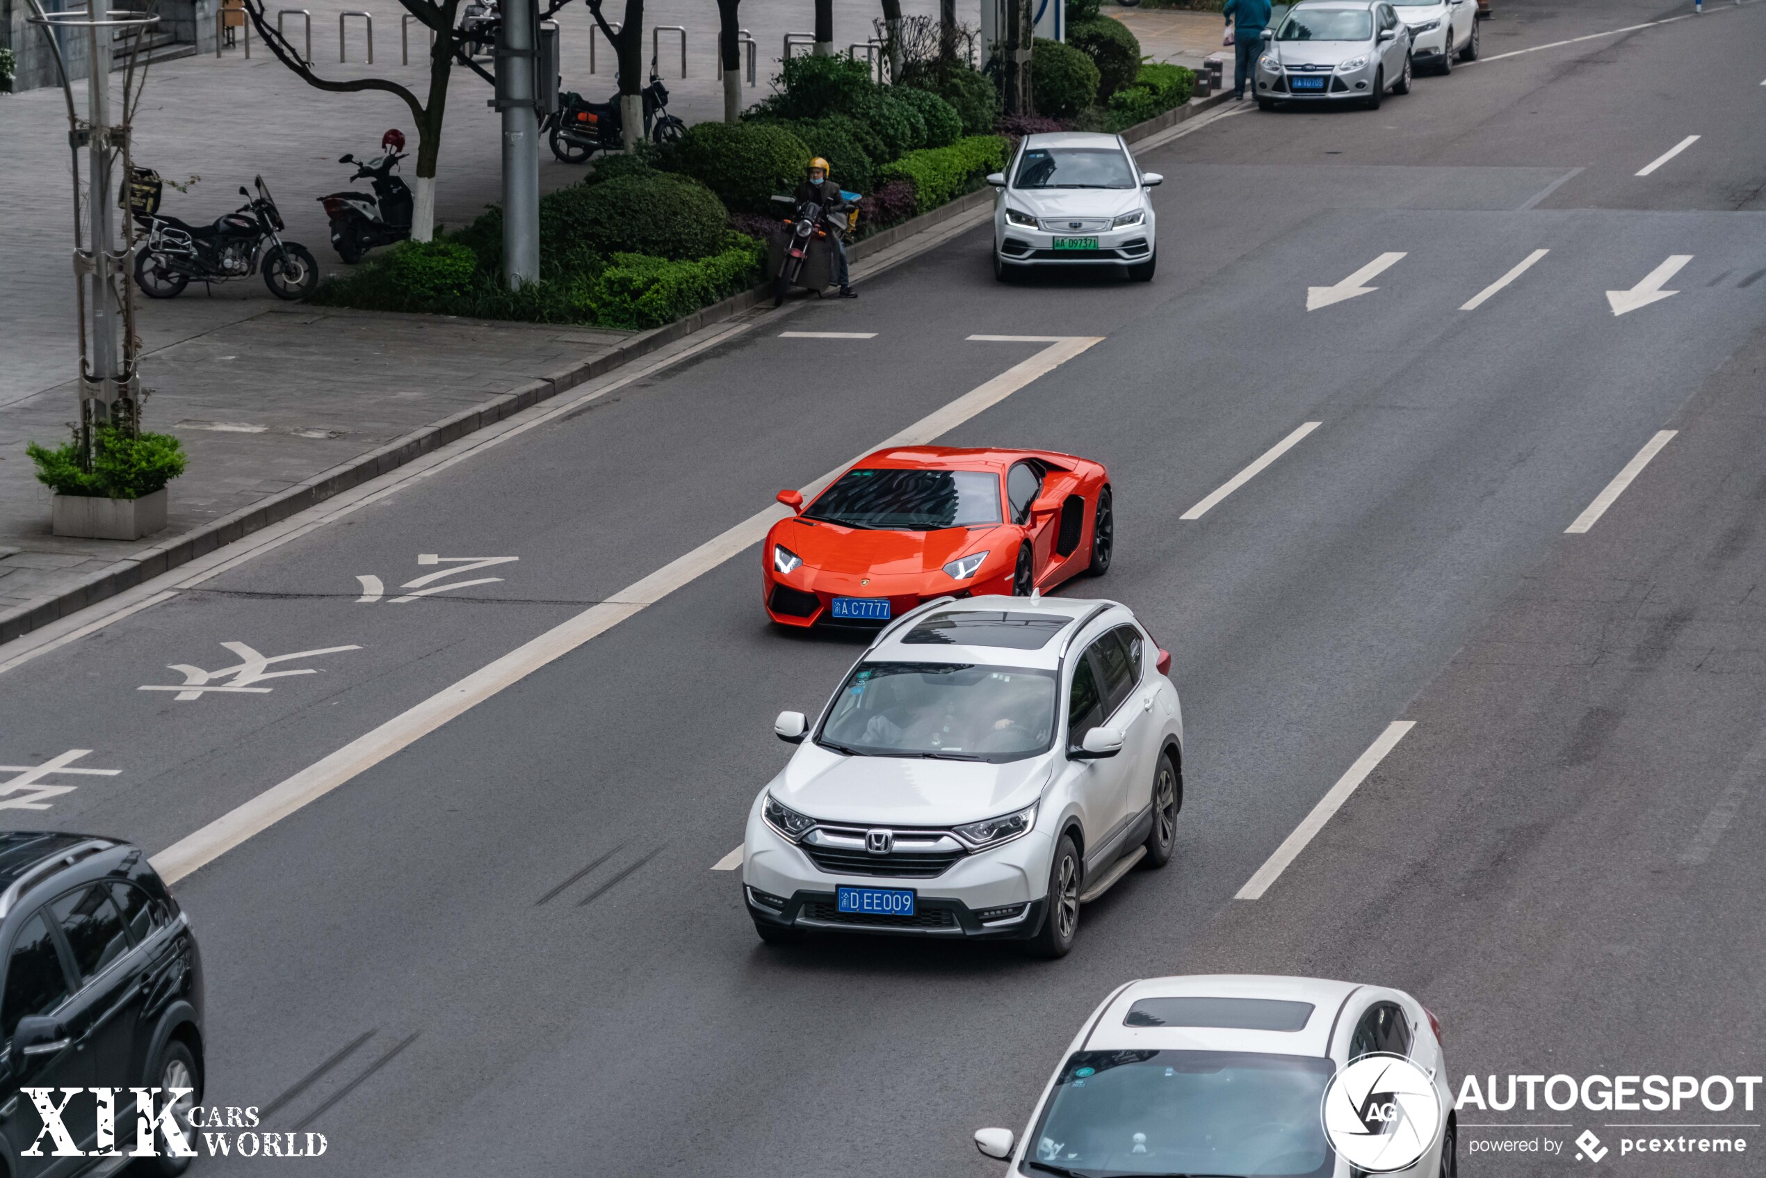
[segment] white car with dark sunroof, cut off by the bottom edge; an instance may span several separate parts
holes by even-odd
[[[1413,1118],[1418,1136],[1395,1159],[1416,1160],[1388,1173],[1455,1178],[1453,1093],[1436,1017],[1402,991],[1319,978],[1128,982],[1086,1019],[1024,1137],[982,1129],[975,1146],[1028,1178],[1351,1178],[1362,1171],[1326,1136],[1326,1090],[1376,1054],[1415,1063],[1397,1070],[1430,1106]],[[1365,1093],[1353,1099],[1363,1104],[1349,1104],[1351,1114],[1372,1116]]]

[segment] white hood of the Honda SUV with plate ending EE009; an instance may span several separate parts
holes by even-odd
[[[800,814],[865,827],[954,827],[1024,809],[1042,795],[1053,752],[989,765],[841,756],[804,742],[768,789]]]

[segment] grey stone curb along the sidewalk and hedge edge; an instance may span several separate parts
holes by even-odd
[[[1224,101],[1227,101],[1226,92],[1206,99],[1190,99],[1183,106],[1166,111],[1158,118],[1150,118],[1143,124],[1128,127],[1121,132],[1121,138],[1128,143],[1137,143],[1139,140],[1194,118]],[[883,230],[881,233],[853,242],[848,247],[848,256],[851,261],[862,261],[871,254],[925,233],[945,221],[961,217],[966,212],[982,208],[991,201],[992,189],[982,187],[975,193],[968,193],[966,196],[959,196],[957,200],[940,205],[931,212],[909,217],[897,226]],[[936,242],[927,242],[927,245],[934,244]],[[297,512],[323,503],[334,495],[357,487],[369,479],[378,479],[390,470],[404,466],[411,459],[422,457],[424,454],[438,450],[470,433],[477,433],[479,429],[493,426],[505,417],[528,410],[540,401],[547,401],[560,392],[565,392],[567,389],[574,389],[581,383],[595,380],[597,376],[604,376],[630,360],[657,351],[678,339],[685,339],[703,327],[733,320],[743,311],[758,307],[770,297],[770,283],[742,291],[740,295],[731,295],[729,298],[701,307],[682,320],[664,327],[655,327],[648,332],[639,332],[604,355],[581,364],[572,364],[570,367],[558,369],[556,373],[547,373],[539,380],[530,380],[525,385],[517,385],[516,389],[486,401],[484,404],[443,417],[438,422],[431,422],[429,426],[413,429],[403,438],[389,442],[378,450],[369,450],[367,454],[362,454],[348,463],[323,470],[260,503],[242,507],[230,516],[223,516],[214,523],[207,523],[201,528],[185,532],[184,535],[164,540],[162,544],[154,544],[127,560],[120,560],[108,569],[101,569],[99,572],[76,581],[60,593],[41,597],[12,609],[11,613],[0,615],[0,643],[9,643],[21,634],[35,631],[37,627],[65,618],[78,609],[94,606],[108,597],[115,597],[124,590],[131,590],[143,581],[150,581],[162,572],[170,572],[178,565],[196,560],[198,556],[207,556],[217,547],[231,544],[233,540],[251,535],[260,528],[267,528]]]

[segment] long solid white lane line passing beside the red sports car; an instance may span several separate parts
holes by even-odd
[[[869,454],[892,445],[925,445],[961,426],[982,410],[987,410],[1008,396],[1044,376],[1086,348],[1102,341],[1102,336],[1074,336],[1042,348],[1028,360],[1019,360],[1000,376],[971,389],[950,404],[927,413],[918,422],[908,426],[892,438],[864,450]],[[860,457],[851,459],[857,463]],[[804,498],[814,498],[823,487],[834,482],[851,463],[835,466],[821,479],[804,487]],[[532,675],[542,666],[560,659],[597,634],[604,634],[620,622],[630,618],[645,606],[652,606],[675,590],[689,585],[705,572],[724,563],[731,556],[752,547],[765,539],[766,530],[777,519],[784,519],[789,509],[782,503],[763,507],[722,535],[717,535],[683,556],[676,556],[641,581],[625,586],[609,600],[590,606],[583,613],[546,631],[521,646],[516,646],[500,659],[479,668],[466,678],[443,687],[417,706],[401,712],[373,731],[357,736],[336,752],[314,761],[293,777],[288,777],[258,797],[228,811],[201,830],[178,839],[159,855],[154,855],[154,869],[166,883],[175,883],[203,864],[210,864],[221,855],[267,830],[279,819],[293,814],[300,807],[314,802],[357,774],[378,765],[394,752],[415,744],[427,733],[442,728],[466,710],[484,703],[510,683]]]

